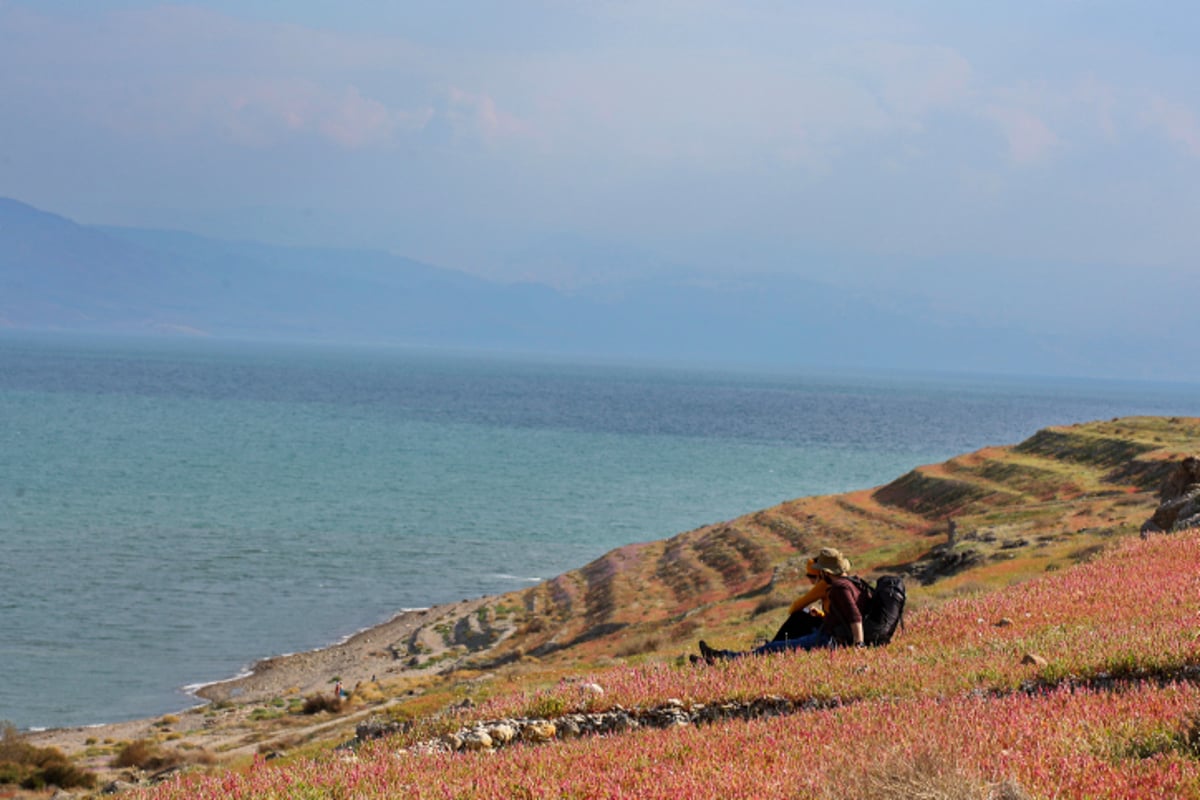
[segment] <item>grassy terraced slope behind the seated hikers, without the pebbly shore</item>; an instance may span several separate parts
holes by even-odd
[[[851,554],[859,573],[908,572],[914,613],[937,609],[1091,560],[1136,535],[1163,477],[1198,451],[1198,419],[1051,428],[1016,446],[914,469],[874,491],[802,498],[626,546],[492,599],[469,620],[490,646],[431,664],[416,693],[410,680],[384,682],[360,709],[386,703],[390,715],[421,718],[464,697],[534,692],[608,664],[678,664],[701,637],[750,645],[769,636],[781,606],[806,588],[797,563],[826,545]],[[950,518],[959,534],[953,547]],[[313,736],[298,735],[294,721],[280,724],[292,741],[318,746],[344,740],[352,727],[320,722]],[[254,736],[270,741],[269,726]]]

